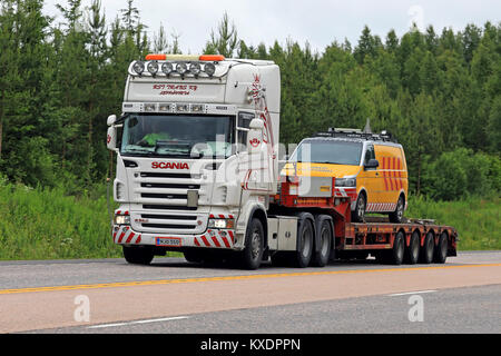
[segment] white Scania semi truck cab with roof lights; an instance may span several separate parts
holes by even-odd
[[[228,250],[257,268],[277,189],[279,96],[272,61],[150,55],[130,63],[107,139],[120,204],[112,237],[127,261]]]

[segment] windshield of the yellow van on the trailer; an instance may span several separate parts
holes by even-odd
[[[291,156],[289,161],[358,166],[361,156],[362,142],[305,140]]]

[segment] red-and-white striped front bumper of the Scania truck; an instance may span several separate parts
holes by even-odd
[[[205,247],[235,249],[235,231],[230,229],[208,229],[199,235],[173,235],[138,233],[128,225],[115,225],[114,243],[117,245],[149,245],[181,249],[184,247]]]

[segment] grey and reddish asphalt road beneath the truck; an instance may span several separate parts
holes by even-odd
[[[501,334],[501,251],[247,271],[157,258],[0,261],[0,332]]]

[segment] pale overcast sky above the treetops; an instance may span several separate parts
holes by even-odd
[[[90,2],[82,0],[84,7]],[[55,3],[66,2],[46,0],[47,14],[60,16]],[[101,3],[109,24],[127,0]],[[181,50],[190,53],[202,52],[225,11],[247,46],[264,42],[269,47],[275,40],[285,44],[291,38],[302,46],[310,42],[318,52],[345,38],[355,46],[365,24],[384,40],[391,29],[399,36],[405,33],[412,21],[422,30],[433,24],[440,33],[444,27],[458,31],[468,23],[482,27],[488,20],[501,20],[500,0],[136,0],[134,4],[151,37],[161,22],[168,33],[180,34]]]

